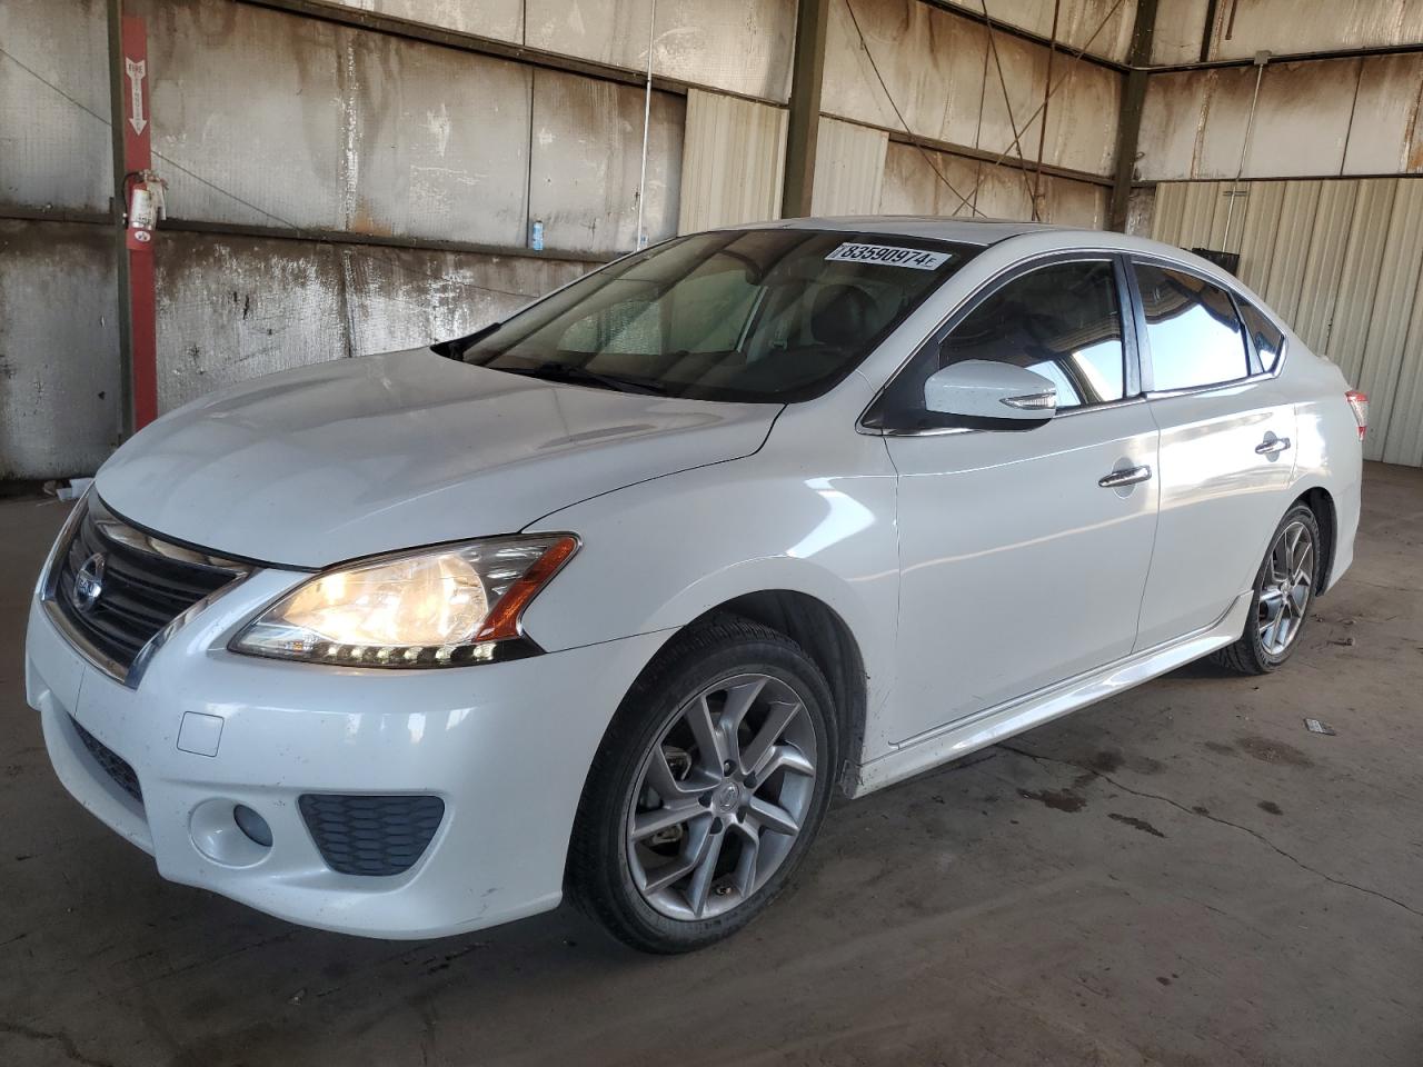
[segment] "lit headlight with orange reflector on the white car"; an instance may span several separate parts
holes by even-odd
[[[317,575],[233,640],[252,656],[361,667],[495,659],[519,616],[578,549],[569,534],[488,538]]]

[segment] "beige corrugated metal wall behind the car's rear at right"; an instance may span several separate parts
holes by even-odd
[[[1238,252],[1245,285],[1369,394],[1365,455],[1423,467],[1423,178],[1167,182],[1151,236]]]

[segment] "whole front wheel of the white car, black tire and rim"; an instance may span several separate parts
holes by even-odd
[[[569,889],[635,949],[721,940],[785,889],[837,768],[830,686],[810,656],[739,616],[697,623],[643,670],[603,737]]]

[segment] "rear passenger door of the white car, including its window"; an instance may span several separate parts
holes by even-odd
[[[1143,378],[1161,430],[1161,516],[1137,650],[1211,626],[1251,588],[1285,514],[1294,407],[1224,287],[1165,262],[1131,266]]]

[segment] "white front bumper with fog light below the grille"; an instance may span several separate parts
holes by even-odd
[[[556,906],[588,768],[665,635],[444,670],[226,650],[252,612],[302,578],[259,572],[219,598],[158,650],[138,689],[91,666],[31,605],[26,691],[68,791],[152,854],[164,878],[306,926],[428,938]],[[178,747],[188,714],[218,720],[189,718],[184,740],[213,755]],[[75,723],[134,768],[141,802],[102,770]],[[444,818],[408,871],[343,875],[299,812],[309,792],[433,794]],[[268,821],[270,848],[233,837],[240,831],[223,819],[236,804]]]

